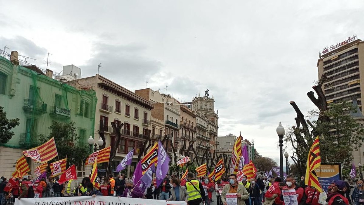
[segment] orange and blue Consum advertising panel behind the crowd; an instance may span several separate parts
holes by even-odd
[[[321,164],[320,167],[315,169],[318,181],[321,183],[322,188],[327,193],[327,190],[332,181],[341,180],[341,164],[335,163],[333,165]]]

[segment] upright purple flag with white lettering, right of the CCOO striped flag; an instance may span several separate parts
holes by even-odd
[[[157,170],[155,172],[155,177],[157,178],[157,187],[161,185],[165,175],[169,170],[169,156],[161,143],[161,140],[158,140],[158,164]]]

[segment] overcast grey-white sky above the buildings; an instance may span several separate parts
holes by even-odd
[[[276,127],[294,124],[317,80],[318,52],[357,34],[364,1],[2,1],[0,47],[62,71],[97,73],[130,90],[148,86],[180,101],[206,87],[218,135],[254,141],[279,161]],[[7,51],[10,51],[7,50]],[[292,152],[290,153],[292,154]]]

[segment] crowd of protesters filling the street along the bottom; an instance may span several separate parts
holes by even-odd
[[[235,174],[211,182],[208,177],[195,178],[193,173],[188,173],[182,181],[174,175],[166,175],[157,187],[156,178],[150,187],[143,191],[139,185],[126,178],[124,175],[107,178],[97,178],[97,183],[92,183],[90,178],[84,177],[80,183],[69,180],[58,183],[59,178],[41,178],[33,182],[31,176],[16,178],[16,184],[9,192],[5,192],[7,178],[0,179],[0,205],[13,204],[15,198],[41,198],[63,196],[117,196],[131,198],[148,198],[166,201],[186,201],[188,205],[199,205],[203,202],[210,205],[213,194],[216,195],[217,205],[226,205],[226,193],[236,193],[237,205],[285,205],[282,190],[293,189],[297,194],[298,205],[319,205],[320,192],[312,186],[297,183],[292,175],[288,175],[283,182],[281,178],[267,179],[258,174],[256,178],[248,179],[242,176],[238,181]],[[97,185],[96,185],[97,184]],[[329,205],[364,205],[363,181],[336,181],[329,186],[327,199]]]

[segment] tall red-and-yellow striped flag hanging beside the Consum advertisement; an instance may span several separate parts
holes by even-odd
[[[320,167],[321,165],[321,155],[320,155],[320,144],[319,144],[318,136],[313,141],[310,151],[308,152],[307,156],[307,168],[306,168],[306,177],[305,177],[305,184],[307,186],[316,187],[318,191],[320,191],[321,185],[317,179],[317,175],[315,169]]]

